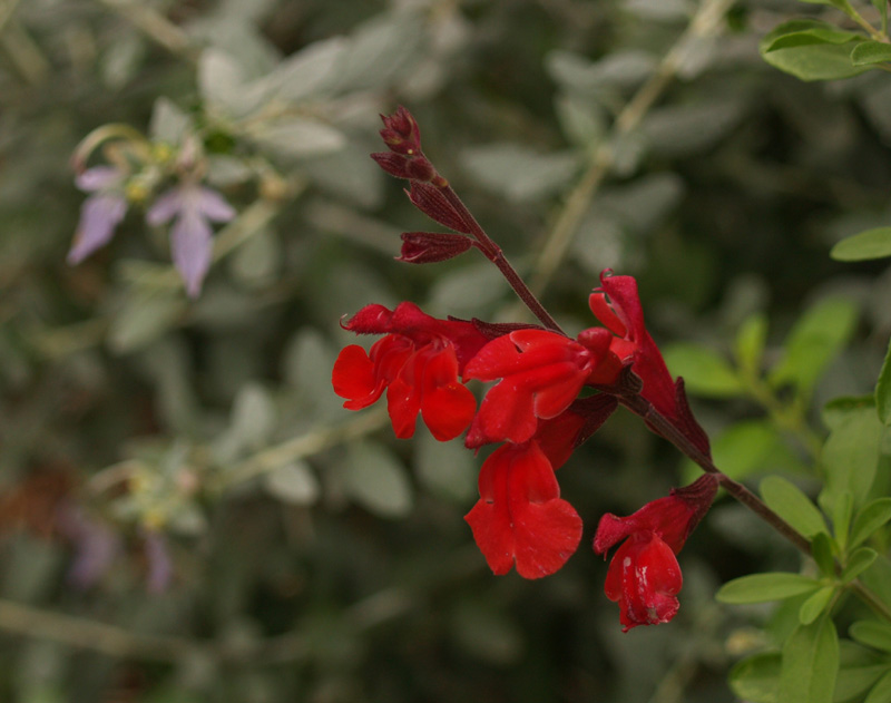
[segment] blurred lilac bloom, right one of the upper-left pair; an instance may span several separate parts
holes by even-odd
[[[170,253],[190,297],[197,297],[210,267],[210,223],[228,222],[234,216],[235,211],[219,193],[197,184],[167,191],[146,213],[148,224],[156,226],[175,218],[170,228]]]

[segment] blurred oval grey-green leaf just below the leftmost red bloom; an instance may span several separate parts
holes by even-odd
[[[382,445],[351,445],[343,478],[350,496],[371,512],[390,518],[411,512],[413,491],[405,469]]]

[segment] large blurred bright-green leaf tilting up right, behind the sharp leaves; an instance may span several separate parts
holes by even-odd
[[[856,305],[844,297],[825,297],[812,305],[790,331],[783,358],[771,370],[771,383],[812,391],[853,333],[856,318]]]

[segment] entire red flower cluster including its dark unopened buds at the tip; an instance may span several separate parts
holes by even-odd
[[[468,448],[501,442],[482,465],[480,499],[466,519],[492,572],[506,574],[516,566],[526,578],[547,576],[581,539],[581,519],[560,498],[555,470],[619,402],[631,407],[630,398],[643,399],[653,429],[655,413],[704,455],[708,440],[687,407],[683,382],[672,379],[646,330],[633,277],[605,271],[589,299],[605,326],[569,338],[423,155],[408,110],[383,119],[381,135],[390,152],[373,158],[388,173],[411,180],[409,196],[419,209],[460,233],[405,233],[399,258],[444,261],[476,247],[499,266],[542,325],[439,320],[408,302],[392,311],[368,305],[344,329],[384,336],[368,352],[359,345],[341,352],[334,390],[351,410],[369,407],[385,391],[399,438],[413,436],[420,413],[438,440],[467,430]],[[470,380],[493,383],[479,409],[466,385]],[[674,616],[682,584],[675,554],[715,490],[714,477],[706,476],[628,518],[607,515],[600,521],[598,554],[627,538],[606,584],[607,595],[619,602],[626,629]]]

